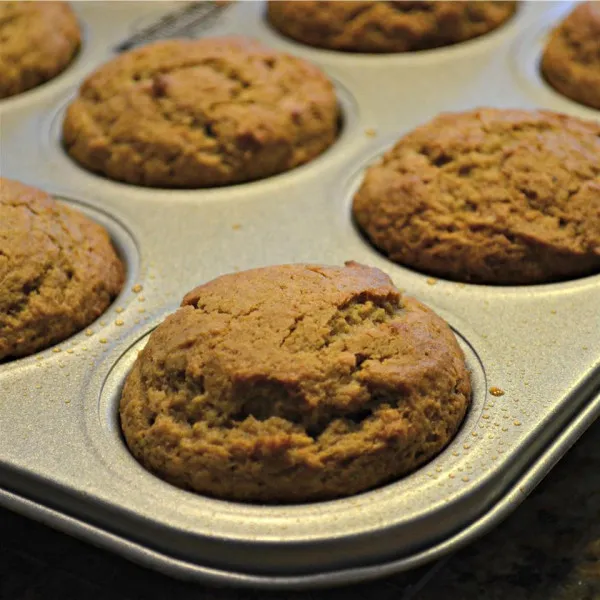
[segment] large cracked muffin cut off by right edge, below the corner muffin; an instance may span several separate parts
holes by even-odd
[[[548,111],[442,114],[371,166],[357,224],[393,261],[458,281],[600,270],[600,123]]]

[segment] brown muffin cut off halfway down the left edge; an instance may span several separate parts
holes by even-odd
[[[48,194],[0,179],[0,360],[56,344],[123,286],[108,233]]]

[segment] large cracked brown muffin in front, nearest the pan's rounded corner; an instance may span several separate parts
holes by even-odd
[[[304,502],[423,464],[470,393],[448,325],[387,275],[286,265],[187,294],[138,356],[120,414],[134,456],[177,486]]]

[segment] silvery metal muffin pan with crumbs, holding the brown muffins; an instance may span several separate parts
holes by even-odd
[[[178,7],[77,3],[85,39],[76,63],[0,103],[2,175],[107,226],[128,268],[123,293],[86,331],[0,364],[0,503],[131,560],[213,583],[318,587],[431,561],[513,510],[600,414],[600,275],[522,287],[432,279],[363,239],[352,195],[368,164],[442,111],[540,105],[600,118],[548,89],[540,96],[536,85],[545,84],[530,81],[540,32],[568,3],[524,3],[482,38],[381,56],[293,43],[264,23],[262,2],[230,5],[202,35],[242,32],[320,65],[344,112],[334,146],[288,173],[208,190],[141,188],[81,169],[60,145],[76,86],[139,23]],[[380,267],[432,306],[465,351],[473,404],[437,458],[351,498],[268,507],[204,498],[138,465],[119,431],[120,390],[152,328],[189,289],[261,265],[349,259]]]

